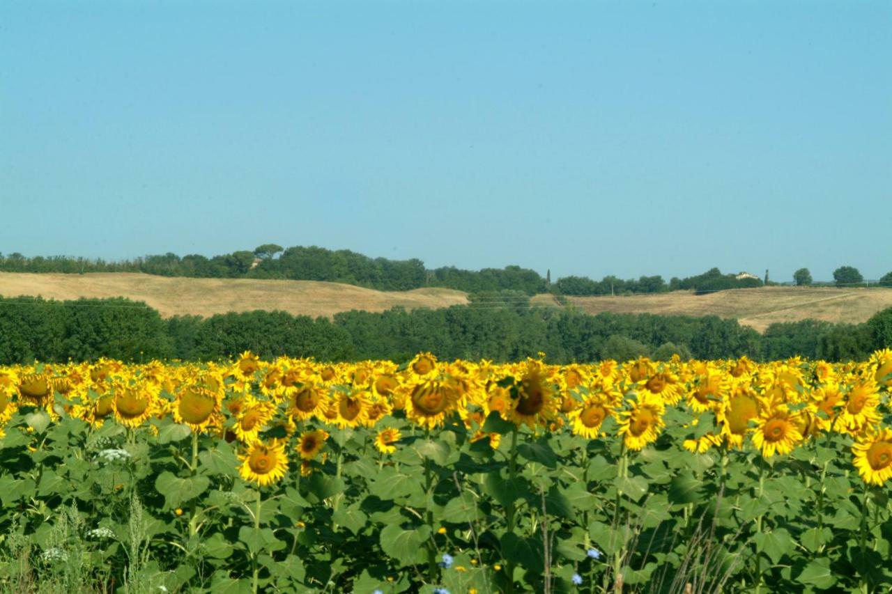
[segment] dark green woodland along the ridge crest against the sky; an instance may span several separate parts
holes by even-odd
[[[854,270],[854,268],[853,268]],[[755,276],[723,274],[718,268],[687,278],[640,276],[622,279],[605,276],[599,281],[587,276],[565,276],[551,282],[535,270],[508,266],[464,270],[455,267],[428,269],[424,262],[369,258],[350,250],[327,250],[316,246],[283,248],[275,243],[260,245],[254,251],[232,252],[207,258],[198,254],[174,253],[145,256],[136,260],[90,260],[53,256],[33,258],[21,253],[0,254],[0,271],[5,272],[142,272],[159,276],[196,276],[210,278],[278,278],[329,281],[359,285],[380,291],[409,291],[421,287],[445,287],[467,293],[485,291],[520,291],[527,295],[609,295],[628,293],[664,293],[693,290],[712,293],[724,289],[763,285]],[[806,271],[807,272],[807,271]],[[892,274],[889,276],[892,285]],[[809,276],[809,282],[811,282]]]

